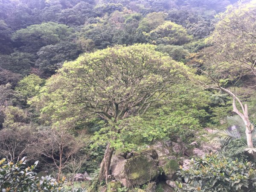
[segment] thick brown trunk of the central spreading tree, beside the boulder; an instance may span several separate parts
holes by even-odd
[[[113,154],[113,148],[108,143],[102,163],[100,164],[99,181],[104,181],[108,184],[108,175],[110,174],[110,162]]]

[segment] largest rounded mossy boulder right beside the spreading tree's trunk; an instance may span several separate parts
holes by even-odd
[[[141,154],[112,166],[111,173],[123,186],[133,187],[156,179],[160,175],[157,164],[150,155]]]

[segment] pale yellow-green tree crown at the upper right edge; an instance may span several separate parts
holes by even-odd
[[[254,49],[256,48],[255,38],[251,31],[255,27],[254,12],[256,3],[238,3],[235,6],[228,6],[226,12],[218,16],[219,22],[207,42],[212,47],[207,53],[205,68],[211,76],[218,77],[218,82],[233,84],[239,78],[247,75],[255,76]],[[216,79],[216,78],[215,78]]]

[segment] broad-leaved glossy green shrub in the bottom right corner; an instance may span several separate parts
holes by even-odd
[[[182,191],[247,192],[256,185],[256,170],[250,162],[241,163],[227,157],[207,155],[192,159],[191,168],[180,169],[178,175],[186,186]]]

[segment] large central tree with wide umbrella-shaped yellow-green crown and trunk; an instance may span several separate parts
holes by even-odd
[[[105,180],[114,150],[111,140],[120,134],[118,122],[163,105],[174,85],[184,80],[185,68],[152,45],[117,46],[65,63],[34,101],[50,123],[93,116],[105,120],[109,127],[105,133],[114,133],[105,143],[99,174]]]

